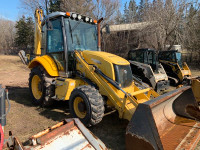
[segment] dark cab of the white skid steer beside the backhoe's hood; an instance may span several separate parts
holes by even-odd
[[[153,70],[156,70],[156,52],[152,49],[137,49],[130,50],[128,53],[128,60],[137,61],[148,64]]]

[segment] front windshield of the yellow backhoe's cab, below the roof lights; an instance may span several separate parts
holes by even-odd
[[[82,21],[65,18],[68,51],[97,51],[97,27]]]

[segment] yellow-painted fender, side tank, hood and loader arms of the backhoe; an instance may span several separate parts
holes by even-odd
[[[77,70],[83,72],[86,77],[91,79],[99,87],[99,92],[101,95],[108,97],[108,104],[114,106],[119,110],[120,118],[130,120],[138,103],[144,103],[150,100],[151,96],[157,97],[157,94],[153,89],[147,88],[140,90],[134,82],[123,90],[129,93],[130,97],[126,98],[125,94],[113,87],[105,79],[102,79],[99,75],[94,72],[94,68],[88,64],[96,65],[102,72],[104,72],[109,78],[115,80],[115,72],[113,64],[117,65],[130,65],[129,62],[119,56],[106,53],[106,52],[96,52],[96,51],[83,51],[76,52],[77,55]],[[87,62],[85,62],[84,60]],[[34,68],[36,66],[42,66],[45,68],[46,72],[52,76],[58,76],[58,69],[53,59],[49,56],[44,55],[41,57],[36,57],[33,59],[29,68]],[[62,80],[61,80],[62,79]],[[55,78],[55,95],[57,100],[69,100],[71,92],[78,86],[87,85],[83,80],[78,78]],[[147,94],[145,94],[147,93]],[[135,98],[134,98],[135,97]],[[127,99],[124,101],[124,99]]]

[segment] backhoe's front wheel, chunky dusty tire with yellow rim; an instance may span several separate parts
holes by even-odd
[[[86,126],[96,125],[104,116],[104,101],[98,90],[89,85],[74,89],[69,100],[70,112]]]

